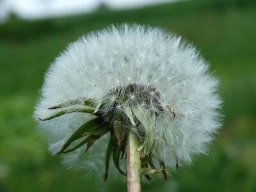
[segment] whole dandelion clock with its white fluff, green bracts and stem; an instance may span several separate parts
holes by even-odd
[[[204,154],[220,128],[216,86],[209,65],[179,36],[123,25],[68,46],[45,76],[34,116],[44,120],[38,124],[53,141],[52,154],[74,153],[63,160],[68,168],[86,168],[97,158],[88,170],[104,170],[105,180],[112,166],[127,178],[136,175],[128,184],[140,173],[167,179]]]

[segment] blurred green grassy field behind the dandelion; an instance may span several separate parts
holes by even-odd
[[[256,191],[256,3],[183,1],[125,11],[0,25],[0,191],[126,191],[124,182],[84,179],[47,152],[32,113],[49,64],[69,42],[121,22],[182,35],[220,78],[223,129],[208,156],[142,191]]]

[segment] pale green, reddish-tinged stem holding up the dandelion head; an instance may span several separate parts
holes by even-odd
[[[140,192],[140,143],[136,134],[130,132],[127,140],[127,189],[128,192]]]

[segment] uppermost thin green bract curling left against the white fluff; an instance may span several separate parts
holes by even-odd
[[[63,103],[58,104],[56,106],[52,106],[51,108],[48,108],[48,109],[65,108],[65,107],[68,107],[68,106],[81,105],[81,104],[83,104],[84,106],[93,107],[93,103],[94,102],[93,102],[92,99],[78,98],[78,99],[68,100],[67,102],[63,102]]]

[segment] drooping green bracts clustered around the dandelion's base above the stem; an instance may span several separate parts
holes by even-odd
[[[134,89],[134,86],[136,85],[129,85],[129,93]],[[136,89],[138,89],[138,87],[136,87]],[[118,89],[113,92],[118,95]],[[126,175],[126,173],[121,170],[119,161],[120,159],[123,159],[125,155],[127,135],[129,131],[134,129],[140,141],[138,152],[141,153],[141,173],[143,173],[147,179],[150,179],[149,175],[163,172],[164,179],[167,179],[164,162],[159,160],[159,169],[152,163],[154,154],[150,149],[154,146],[154,141],[150,140],[150,131],[154,129],[154,127],[150,124],[150,118],[154,118],[154,116],[159,116],[161,114],[154,111],[149,111],[145,114],[143,108],[147,107],[147,102],[150,102],[147,100],[147,92],[150,92],[150,90],[142,90],[140,95],[141,100],[136,100],[136,102],[128,101],[127,94],[119,95],[119,97],[116,97],[114,104],[112,104],[112,108],[109,109],[109,113],[102,112],[104,111],[103,109],[109,105],[108,99],[97,102],[97,105],[93,99],[78,98],[68,100],[67,102],[50,107],[49,110],[58,110],[58,112],[40,120],[51,120],[52,118],[67,113],[77,112],[95,115],[95,118],[85,122],[68,138],[58,154],[73,152],[83,145],[86,145],[85,151],[87,151],[92,147],[95,141],[109,132],[111,137],[106,150],[106,173],[104,180],[108,178],[111,154],[118,171],[122,173],[122,175]],[[138,97],[138,95],[136,96]],[[118,109],[116,110],[115,108]],[[75,144],[70,147],[73,143]]]

